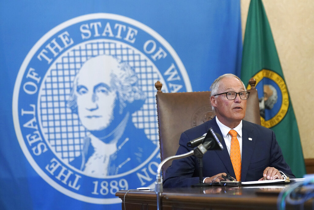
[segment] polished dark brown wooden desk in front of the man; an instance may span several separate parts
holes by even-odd
[[[277,209],[277,197],[289,184],[272,186],[172,188],[162,193],[163,210],[173,209]],[[155,210],[157,208],[154,191],[120,190],[116,193],[126,209]],[[307,202],[304,209],[311,209]],[[287,207],[289,209],[289,207]]]

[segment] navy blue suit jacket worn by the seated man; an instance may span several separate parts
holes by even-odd
[[[214,118],[182,133],[176,155],[191,151],[192,148],[187,147],[187,142],[207,133],[209,128],[213,128],[214,132],[222,136]],[[229,173],[232,177],[236,177],[224,139],[221,143],[224,150],[209,150],[204,154],[203,177],[212,177],[218,173]],[[244,120],[242,121],[241,162],[241,181],[261,179],[263,171],[268,166],[277,168],[290,178],[295,178],[284,160],[275,133],[268,128]],[[197,183],[199,183],[197,158],[189,156],[172,162],[166,170],[163,186],[165,188],[186,187]]]

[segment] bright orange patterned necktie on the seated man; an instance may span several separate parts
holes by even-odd
[[[236,180],[241,181],[241,152],[240,144],[236,135],[238,134],[235,130],[230,130],[229,134],[231,138],[231,148],[230,148],[230,159],[232,162],[233,170],[236,174]]]

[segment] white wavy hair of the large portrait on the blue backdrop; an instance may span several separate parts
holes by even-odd
[[[100,56],[108,56],[108,55],[100,55]],[[146,97],[145,97],[145,94],[142,92],[140,86],[138,85],[138,77],[135,74],[132,67],[127,62],[122,62],[121,59],[115,56],[111,56],[111,57],[120,64],[119,68],[110,74],[112,78],[110,85],[112,89],[118,92],[118,99],[120,102],[119,112],[121,114],[123,112],[123,109],[127,106],[127,102],[131,104],[135,100],[144,101]],[[90,59],[93,59],[93,58],[95,57],[92,57]],[[73,87],[71,90],[70,97],[67,101],[67,107],[71,108],[73,113],[77,114],[78,105],[77,105],[77,96],[75,94],[76,87],[77,87],[77,78],[75,78],[73,81]]]

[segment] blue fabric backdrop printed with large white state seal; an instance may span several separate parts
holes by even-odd
[[[154,187],[154,82],[240,75],[240,1],[2,1],[0,15],[0,209],[120,209],[117,190]]]

